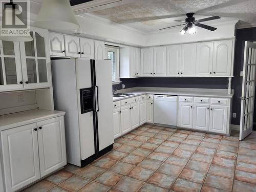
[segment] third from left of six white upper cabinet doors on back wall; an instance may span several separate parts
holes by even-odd
[[[180,76],[181,45],[168,46],[166,49],[166,76]]]

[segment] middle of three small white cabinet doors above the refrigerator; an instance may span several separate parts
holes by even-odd
[[[65,35],[65,50],[67,57],[80,57],[79,37]]]

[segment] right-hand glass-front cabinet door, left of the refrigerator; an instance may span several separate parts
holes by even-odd
[[[24,88],[49,87],[51,82],[48,31],[31,30],[33,41],[20,42]]]

